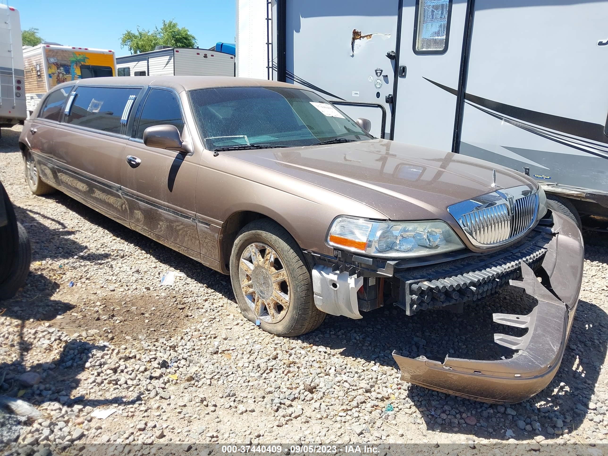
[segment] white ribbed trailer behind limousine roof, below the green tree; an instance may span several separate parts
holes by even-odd
[[[234,56],[209,49],[167,47],[116,58],[119,76],[234,76]]]

